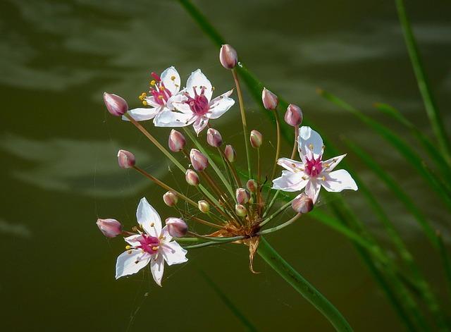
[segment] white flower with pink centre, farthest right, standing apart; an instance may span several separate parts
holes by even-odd
[[[357,190],[350,173],[344,169],[332,172],[346,154],[323,161],[323,139],[315,130],[306,126],[299,129],[298,149],[302,162],[288,158],[278,159],[277,164],[286,171],[282,171],[280,178],[273,180],[273,189],[295,192],[305,187],[305,193],[313,202],[316,202],[321,186],[329,192]]]

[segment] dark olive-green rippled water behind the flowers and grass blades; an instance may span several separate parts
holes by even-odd
[[[451,117],[451,6],[407,1],[433,90]],[[352,137],[387,168],[443,230],[449,221],[428,186],[376,134],[324,102],[322,87],[376,114],[374,102],[402,109],[429,133],[393,1],[195,1],[233,44],[247,66],[329,140]],[[247,249],[223,245],[192,250],[190,262],[166,269],[163,288],[149,272],[114,280],[125,245],[106,240],[98,216],[128,228],[142,196],[163,218],[163,192],[116,164],[120,148],[172,185],[179,173],[132,125],[109,116],[104,91],[138,106],[150,71],[174,65],[183,82],[202,68],[217,92],[233,86],[197,25],[175,1],[1,1],[0,319],[2,331],[240,331],[242,325],[206,283],[204,271],[261,331],[330,331],[330,325]],[[250,128],[273,140],[271,123],[252,102]],[[215,122],[239,145],[234,106]],[[149,123],[150,128],[150,123]],[[393,128],[397,128],[393,125]],[[152,129],[154,130],[154,129]],[[167,129],[154,130],[166,142]],[[340,142],[338,142],[339,144]],[[285,154],[291,147],[283,145]],[[264,157],[273,158],[273,149]],[[244,149],[241,149],[244,160]],[[381,197],[435,290],[443,273],[416,223],[373,174],[348,161]],[[347,192],[357,214],[386,242],[359,193]],[[327,204],[319,207],[327,210]],[[316,285],[356,331],[399,331],[393,309],[350,242],[311,219],[268,237],[292,266]],[[431,258],[432,257],[432,258]],[[445,295],[443,295],[445,296]]]

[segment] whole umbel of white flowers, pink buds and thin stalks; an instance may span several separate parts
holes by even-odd
[[[139,96],[143,107],[137,109],[128,109],[127,102],[116,94],[104,93],[108,111],[135,125],[180,170],[180,175],[185,176],[187,185],[195,192],[192,197],[201,197],[194,201],[192,197],[183,195],[137,166],[131,152],[120,150],[119,166],[134,168],[163,188],[166,191],[162,195],[163,202],[173,208],[172,213],[177,217],[165,211],[169,217],[163,227],[160,215],[143,197],[136,212],[138,226],[130,231],[123,230],[116,219],[98,219],[97,225],[106,237],[123,235],[127,243],[125,252],[116,262],[116,278],[137,273],[149,265],[154,281],[161,285],[165,262],[168,265],[181,264],[187,262],[189,249],[226,242],[249,247],[249,267],[254,271],[252,261],[261,235],[285,228],[311,211],[321,187],[329,192],[357,190],[347,171],[334,171],[345,155],[323,161],[325,147],[321,136],[313,129],[301,126],[302,111],[294,104],[288,106],[284,116],[285,122],[294,128],[292,153],[290,158],[280,158],[278,97],[266,88],[261,99],[264,108],[275,115],[277,145],[272,172],[266,174],[262,171],[260,149],[264,137],[259,131],[247,128],[235,68],[239,66],[237,53],[226,44],[221,47],[219,59],[224,68],[231,70],[236,85],[244,135],[244,144],[238,150],[246,154],[247,172],[237,169],[235,148],[226,145],[221,133],[211,127],[214,120],[234,106],[235,100],[230,97],[233,90],[214,97],[214,87],[200,69],[192,72],[185,87],[181,86],[180,75],[174,67],[167,68],[161,75],[152,73],[149,91]],[[141,124],[141,121],[149,120],[156,127],[171,128],[167,148]],[[189,128],[191,125],[192,129]],[[174,128],[183,128],[183,133]],[[299,161],[294,160],[296,152],[299,152]],[[285,169],[280,177],[275,178],[278,166]],[[282,202],[278,199],[280,191],[299,192],[299,195]],[[154,199],[157,198],[152,197],[151,201]],[[185,204],[180,204],[180,201]],[[264,227],[290,206],[290,219],[272,228]],[[191,223],[207,226],[209,233],[194,233],[189,227]]]

